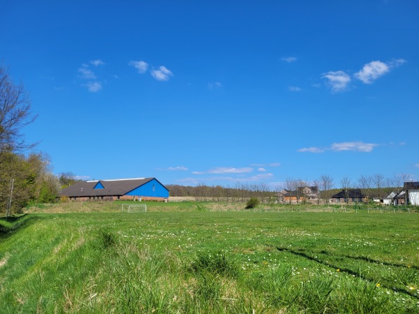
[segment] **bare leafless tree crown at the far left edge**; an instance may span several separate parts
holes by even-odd
[[[0,64],[0,151],[33,148],[35,144],[25,142],[21,131],[35,119],[23,84],[14,84],[8,69]]]

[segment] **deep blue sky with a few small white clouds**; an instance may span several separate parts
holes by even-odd
[[[1,1],[54,173],[419,179],[418,1]]]

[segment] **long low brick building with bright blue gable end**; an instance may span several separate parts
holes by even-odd
[[[156,178],[80,181],[61,190],[70,200],[158,200],[167,202],[169,190]]]

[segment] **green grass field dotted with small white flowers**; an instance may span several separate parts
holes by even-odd
[[[0,218],[1,313],[419,313],[416,213],[71,206]]]

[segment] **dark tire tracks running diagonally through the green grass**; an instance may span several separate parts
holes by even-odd
[[[272,246],[270,246],[270,247],[272,247]],[[314,262],[317,262],[318,264],[323,264],[323,265],[325,265],[325,266],[327,266],[327,267],[331,267],[331,268],[334,268],[334,269],[339,269],[339,272],[344,272],[344,273],[346,273],[346,274],[350,274],[350,275],[352,275],[352,276],[355,276],[355,277],[358,277],[358,278],[361,278],[362,280],[365,280],[365,281],[368,281],[369,283],[378,283],[378,281],[376,280],[376,279],[374,279],[374,278],[369,278],[369,277],[367,277],[367,276],[364,276],[364,275],[362,275],[362,274],[360,274],[359,272],[357,272],[357,271],[353,271],[352,269],[348,269],[348,268],[341,268],[341,267],[337,267],[336,265],[333,265],[333,264],[330,264],[329,262],[324,262],[324,261],[322,261],[322,260],[319,260],[318,258],[316,258],[316,257],[312,257],[312,256],[310,256],[310,255],[308,255],[307,253],[304,253],[305,251],[294,251],[294,250],[292,250],[291,248],[281,248],[281,247],[276,247],[277,248],[277,250],[279,251],[279,252],[288,252],[288,253],[291,253],[291,254],[293,254],[293,255],[297,255],[297,256],[300,256],[300,257],[304,257],[304,258],[306,258],[307,260],[312,260],[312,261],[314,261]],[[321,253],[321,254],[325,254],[325,253]],[[329,256],[331,256],[330,254],[328,254],[328,253],[326,253],[326,255],[329,255]],[[332,256],[335,256],[335,257],[346,257],[346,255],[342,255],[342,256],[339,256],[339,255],[332,255]],[[365,259],[362,259],[362,260],[365,260],[365,261],[367,261],[367,262],[370,262],[369,260],[369,258],[368,257],[365,257]],[[390,263],[389,263],[390,264]],[[398,264],[396,264],[395,266],[398,266],[398,267],[403,267],[403,265],[398,265]],[[406,266],[404,266],[404,267],[406,267]],[[416,269],[417,267],[415,267],[415,269]],[[408,294],[409,296],[411,296],[411,297],[413,297],[413,298],[415,298],[415,299],[419,299],[419,296],[417,295],[417,294],[413,294],[413,292],[410,292],[409,290],[406,290],[406,289],[404,289],[404,288],[399,288],[399,287],[390,287],[390,286],[388,286],[387,284],[385,284],[385,283],[382,283],[382,284],[380,284],[381,285],[381,287],[385,287],[386,289],[388,289],[388,290],[392,290],[392,291],[394,291],[394,292],[402,292],[402,293],[404,293],[404,294]]]

